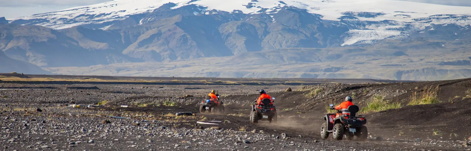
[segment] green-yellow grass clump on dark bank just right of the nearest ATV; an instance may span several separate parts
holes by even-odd
[[[360,109],[360,114],[380,112],[388,109],[401,108],[401,103],[389,103],[383,96],[374,96],[371,101],[366,102],[366,106]]]

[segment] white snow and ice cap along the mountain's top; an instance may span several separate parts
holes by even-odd
[[[471,24],[471,7],[445,6],[400,0],[112,0],[56,12],[9,19],[22,25],[41,25],[52,29],[90,25],[107,29],[131,15],[152,13],[162,5],[177,9],[196,6],[195,15],[222,11],[246,15],[278,13],[284,7],[305,9],[333,24],[348,25],[348,36],[341,45],[371,43],[384,38],[402,38],[408,31],[424,30],[434,24]],[[147,20],[146,20],[147,19]],[[141,17],[139,24],[152,21]],[[276,18],[272,18],[276,22]],[[99,25],[97,25],[99,24]]]

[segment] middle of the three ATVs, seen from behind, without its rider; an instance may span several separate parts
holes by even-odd
[[[275,98],[272,98],[275,99]],[[255,98],[257,101],[257,98]],[[278,114],[276,113],[276,106],[270,104],[270,99],[262,99],[262,105],[252,105],[252,112],[250,113],[250,121],[252,123],[258,123],[261,121],[270,121],[270,123],[276,123],[278,121]]]

